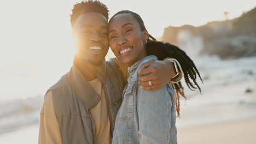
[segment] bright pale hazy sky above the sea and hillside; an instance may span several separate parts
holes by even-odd
[[[66,63],[72,61],[74,40],[69,15],[80,1],[24,0],[0,2],[0,65],[9,63]],[[199,26],[230,19],[256,7],[256,1],[113,1],[102,0],[110,17],[119,10],[141,15],[148,32],[161,37],[164,28],[185,24]]]

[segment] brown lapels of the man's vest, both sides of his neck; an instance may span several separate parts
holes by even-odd
[[[75,93],[80,99],[85,103],[85,108],[89,111],[94,107],[98,101],[101,100],[100,95],[98,95],[94,88],[91,87],[88,80],[85,79],[83,74],[78,70],[78,68],[73,63],[72,68],[67,73],[68,81],[74,89]],[[100,81],[105,83],[106,81],[106,62],[103,61],[102,64],[97,67],[97,77]]]

